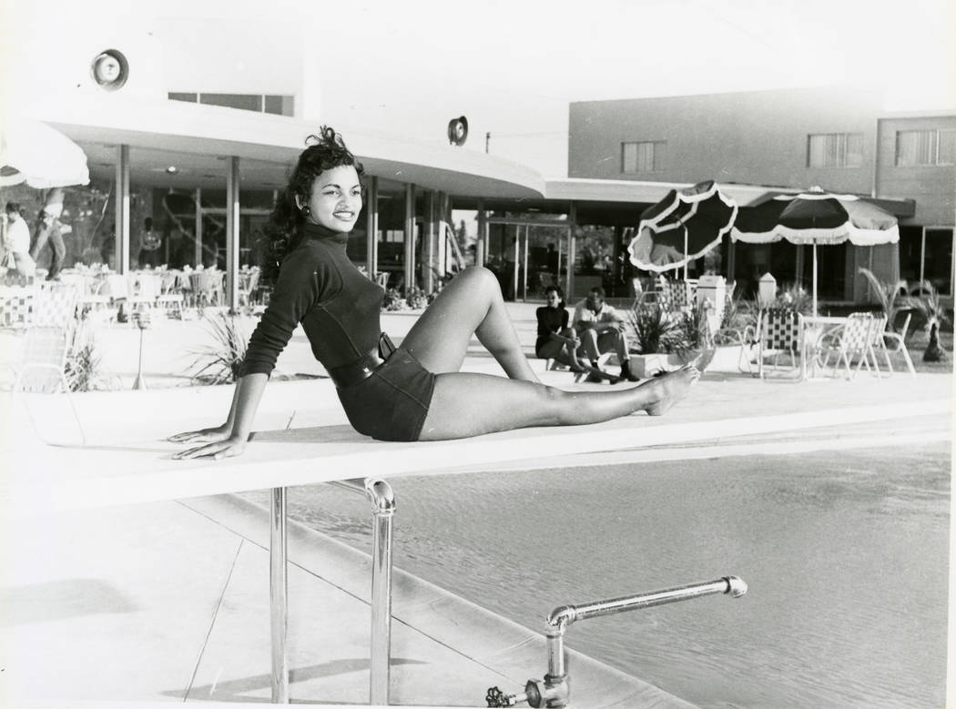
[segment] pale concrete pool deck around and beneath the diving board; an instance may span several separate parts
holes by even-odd
[[[528,338],[533,339],[528,308],[516,318],[526,346]],[[406,332],[414,318],[392,315],[383,322],[401,337],[402,327]],[[156,350],[166,353],[165,359],[147,359],[147,381],[152,376],[157,382],[175,382],[182,376],[174,355],[194,330],[190,324],[179,325],[165,323],[147,333],[157,339],[163,333]],[[102,336],[110,342],[108,354],[120,379],[129,375],[130,360],[135,375],[138,333],[113,328]],[[307,350],[296,338],[280,367],[320,374],[302,369],[311,366]],[[492,360],[477,352],[465,366],[469,371],[497,371]],[[542,378],[571,385],[567,373],[548,372]],[[877,420],[890,424],[880,434],[885,444],[892,444],[894,436],[906,444],[906,437],[916,435],[915,420],[935,419],[935,426],[927,427],[929,435],[947,435],[951,396],[948,374],[883,379],[863,374],[853,381],[785,385],[737,376],[728,369],[708,373],[666,417],[634,417],[620,425],[634,436],[635,447],[644,447],[653,440],[679,445],[690,439],[745,440],[772,431],[777,437],[781,432],[825,435],[818,433],[823,427]],[[119,439],[171,451],[176,446],[161,442],[163,437],[218,420],[230,397],[229,387],[156,386],[76,395],[76,406],[92,446]],[[55,436],[76,437],[62,397],[30,397],[30,405]],[[71,448],[52,450],[35,440],[22,411],[11,410],[9,397],[2,399],[2,406],[11,414],[4,425],[4,445],[11,470],[19,473],[13,478],[22,479],[25,471],[42,477],[47,465],[68,467],[64,460],[70,460]],[[761,421],[773,425],[761,429]],[[897,433],[893,421],[907,425]],[[331,383],[314,378],[273,382],[255,428],[291,428],[291,435],[307,437],[312,427],[344,422]],[[595,429],[615,435],[624,430]],[[689,429],[698,430],[696,439],[688,439]],[[449,465],[461,464],[460,459],[449,460]],[[68,477],[70,470],[59,474]],[[395,487],[401,515],[401,480]],[[8,485],[3,497],[7,514],[0,552],[0,617],[5,626],[0,698],[5,705],[268,702],[269,525],[264,510],[226,495],[31,517],[17,514],[16,508],[39,501],[18,497],[17,489]],[[368,697],[369,558],[301,526],[291,526],[289,544],[293,701],[363,704]],[[675,582],[696,580],[705,579]],[[393,703],[482,706],[489,686],[515,692],[529,677],[544,674],[540,628],[518,626],[399,571],[395,593]],[[734,601],[745,602],[746,597]],[[549,610],[540,609],[542,621]],[[569,642],[574,646],[573,637]],[[582,656],[572,658],[571,672],[576,706],[685,705]]]

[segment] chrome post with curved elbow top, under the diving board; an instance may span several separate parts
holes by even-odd
[[[388,704],[392,654],[392,518],[395,495],[392,487],[377,478],[365,479],[365,496],[372,503],[372,648],[369,703]]]

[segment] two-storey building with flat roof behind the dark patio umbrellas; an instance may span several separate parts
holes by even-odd
[[[824,297],[864,299],[861,266],[951,296],[956,111],[890,115],[881,100],[872,89],[827,87],[576,102],[569,177],[820,185],[873,198],[898,217],[900,245],[820,249]],[[734,248],[730,278],[747,282],[761,269],[778,281],[809,277],[809,259],[787,243]]]

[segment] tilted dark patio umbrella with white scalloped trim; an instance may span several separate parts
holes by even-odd
[[[627,247],[631,263],[661,273],[684,267],[720,244],[737,215],[737,204],[711,181],[672,189],[641,213],[638,235]]]

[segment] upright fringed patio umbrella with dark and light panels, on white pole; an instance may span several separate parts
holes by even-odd
[[[872,247],[900,241],[897,218],[856,195],[811,187],[796,195],[775,195],[753,206],[741,207],[730,229],[734,242],[791,244],[814,247],[814,314],[816,314],[816,246],[842,244]]]

